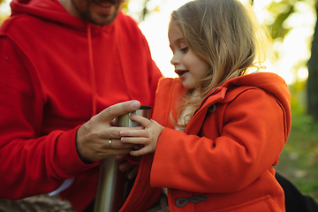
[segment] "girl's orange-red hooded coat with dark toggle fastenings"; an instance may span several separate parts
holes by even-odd
[[[284,79],[260,72],[228,80],[203,100],[185,133],[171,129],[169,119],[184,92],[179,79],[160,81],[153,118],[167,127],[154,158],[143,156],[141,180],[133,191],[139,191],[136,187],[150,175],[152,191],[168,187],[171,212],[284,211],[284,191],[272,168],[291,127],[290,95]],[[180,197],[204,194],[207,201],[176,206]],[[144,196],[148,194],[130,194],[133,200]],[[136,207],[129,199],[125,204]],[[145,210],[138,209],[123,211]]]

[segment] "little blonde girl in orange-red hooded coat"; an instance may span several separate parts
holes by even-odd
[[[171,64],[153,119],[121,132],[144,155],[121,211],[145,211],[168,188],[170,211],[284,211],[276,181],[291,127],[284,79],[261,68],[269,39],[239,0],[196,0],[171,14]],[[150,154],[148,154],[150,153]],[[147,155],[146,155],[147,154]]]

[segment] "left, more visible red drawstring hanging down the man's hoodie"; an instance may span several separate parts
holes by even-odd
[[[93,49],[92,49],[92,36],[91,27],[87,23],[87,40],[88,40],[88,55],[89,55],[89,68],[90,68],[90,84],[92,87],[92,117],[96,115],[96,82],[95,82],[95,68],[93,62]]]

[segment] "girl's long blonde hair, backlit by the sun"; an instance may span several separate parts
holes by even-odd
[[[190,107],[192,113],[187,114],[187,120],[214,87],[252,68],[260,69],[270,52],[267,31],[257,21],[251,6],[239,0],[195,0],[173,11],[170,21],[180,28],[194,54],[211,66],[204,78],[196,81],[197,98],[189,98],[189,90],[183,99],[178,117]],[[185,129],[187,121],[185,125],[174,124]]]

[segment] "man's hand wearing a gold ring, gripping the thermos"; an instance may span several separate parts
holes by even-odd
[[[139,108],[138,101],[120,102],[102,110],[81,125],[76,136],[79,158],[84,163],[90,163],[109,156],[129,154],[134,147],[138,147],[138,145],[121,142],[119,132],[124,129],[142,129],[142,127],[117,127],[110,123],[115,117]]]

